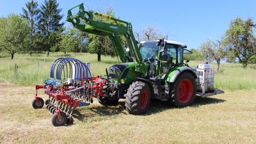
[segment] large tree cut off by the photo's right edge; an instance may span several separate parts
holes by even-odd
[[[252,63],[256,54],[256,39],[253,34],[255,26],[252,19],[243,20],[237,17],[230,22],[229,29],[226,31],[225,44],[243,64],[243,67]]]

